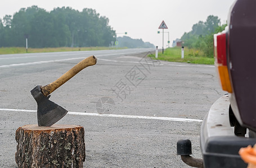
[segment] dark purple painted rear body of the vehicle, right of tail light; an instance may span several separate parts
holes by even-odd
[[[256,131],[256,1],[236,1],[228,18],[231,108],[243,127]]]

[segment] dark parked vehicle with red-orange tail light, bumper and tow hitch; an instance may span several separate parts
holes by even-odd
[[[188,139],[177,142],[177,154],[194,167],[247,167],[238,152],[256,143],[255,0],[233,3],[228,26],[214,35],[214,57],[222,89],[228,94],[214,102],[201,125],[203,159],[190,156]]]

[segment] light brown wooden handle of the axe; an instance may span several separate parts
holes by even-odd
[[[41,87],[41,91],[44,96],[50,95],[53,91],[55,91],[58,87],[63,85],[66,81],[70,80],[75,74],[82,71],[82,69],[94,66],[97,63],[97,58],[92,55],[91,57],[88,57],[86,59],[83,59],[81,62],[79,62],[77,65],[75,65],[73,68],[71,68],[68,72],[64,73],[61,77],[59,77],[56,81]]]

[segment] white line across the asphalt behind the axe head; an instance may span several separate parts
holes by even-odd
[[[37,110],[23,110],[23,109],[0,109],[0,111],[17,111],[17,112],[33,112],[37,113]],[[82,112],[71,112],[70,115],[87,115],[87,116],[105,116],[114,118],[134,118],[134,119],[155,119],[155,120],[166,120],[173,122],[203,122],[199,119],[189,119],[189,118],[172,118],[163,116],[140,116],[140,115],[118,115],[118,114],[98,114],[98,113],[82,113]]]

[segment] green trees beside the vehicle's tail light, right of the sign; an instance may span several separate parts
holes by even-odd
[[[204,53],[206,57],[213,57],[213,34],[221,32],[227,24],[221,25],[218,16],[210,15],[206,21],[199,21],[192,26],[190,32],[185,32],[181,37],[184,46],[195,48]]]

